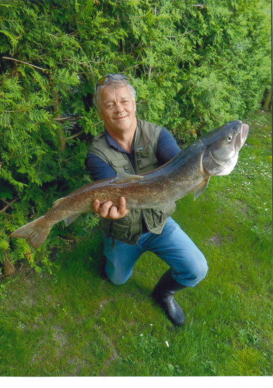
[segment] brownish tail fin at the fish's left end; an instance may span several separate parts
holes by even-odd
[[[41,227],[41,219],[43,218],[44,216],[41,216],[38,219],[29,222],[29,224],[21,226],[20,228],[16,229],[16,231],[11,233],[11,237],[28,238],[32,247],[39,248],[39,246],[44,243],[44,240],[46,240],[48,233],[52,228],[52,226],[50,228]]]

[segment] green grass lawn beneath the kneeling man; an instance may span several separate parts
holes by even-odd
[[[125,285],[101,276],[98,230],[56,252],[56,269],[22,266],[1,280],[1,376],[272,375],[271,116],[250,120],[232,174],[178,202],[173,218],[204,252],[209,271],[176,298],[184,327],[150,297],[167,266],[140,257]],[[168,342],[168,346],[166,344]]]

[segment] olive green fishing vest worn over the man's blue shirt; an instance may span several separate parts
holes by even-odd
[[[108,145],[105,134],[95,136],[88,153],[100,157],[116,174],[141,174],[159,167],[157,161],[157,143],[162,127],[137,119],[134,139],[135,169],[126,153]],[[110,200],[111,198],[109,198]],[[160,234],[166,224],[168,216],[175,211],[175,202],[168,202],[161,207],[152,209],[131,209],[122,219],[100,218],[100,226],[107,237],[123,243],[134,245],[142,235],[142,217],[147,229],[151,233]]]

